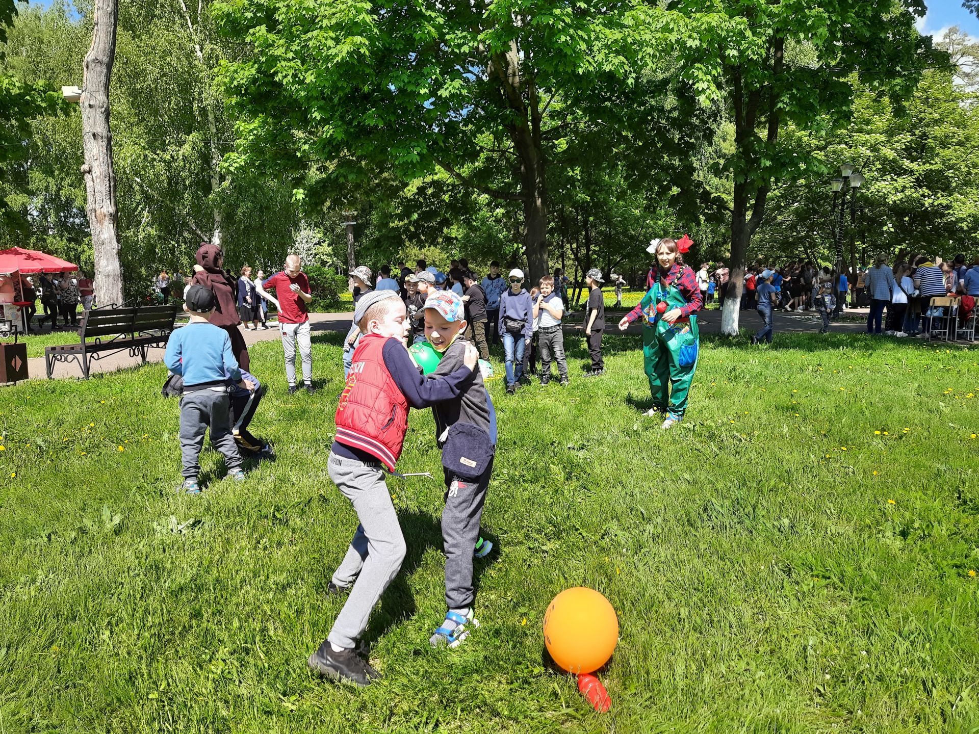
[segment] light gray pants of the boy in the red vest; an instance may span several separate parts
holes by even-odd
[[[381,463],[346,459],[331,452],[327,469],[330,479],[353,503],[360,521],[347,555],[333,574],[335,584],[352,583],[353,588],[327,637],[334,645],[349,649],[367,628],[371,610],[401,568],[406,549]]]

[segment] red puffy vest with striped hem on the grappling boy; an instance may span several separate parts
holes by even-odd
[[[393,472],[408,428],[408,401],[384,364],[388,339],[360,338],[335,421],[338,441],[376,456]]]

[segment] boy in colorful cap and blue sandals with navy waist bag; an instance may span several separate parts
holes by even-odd
[[[457,294],[438,291],[425,301],[425,337],[442,352],[432,377],[454,374],[462,364],[472,346],[462,336],[465,328],[465,310]],[[447,611],[429,642],[433,647],[454,648],[479,626],[473,613],[473,558],[483,558],[492,549],[492,543],[480,537],[480,520],[496,450],[496,413],[480,371],[460,386],[456,397],[434,405],[432,413],[445,477],[442,535]]]

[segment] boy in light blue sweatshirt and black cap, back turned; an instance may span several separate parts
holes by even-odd
[[[227,332],[209,323],[214,305],[210,288],[191,286],[184,298],[190,323],[170,335],[163,354],[166,368],[183,378],[180,454],[184,479],[180,489],[188,494],[201,491],[197,482],[201,471],[198,459],[209,428],[210,442],[224,456],[228,477],[237,481],[245,479],[241,454],[231,432],[229,388],[237,384],[243,390],[255,390],[255,386],[242,379]]]

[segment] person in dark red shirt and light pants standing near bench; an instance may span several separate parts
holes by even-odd
[[[266,288],[275,289],[275,298]],[[289,394],[299,388],[296,386],[296,344],[300,347],[303,362],[303,383],[306,392],[312,392],[312,346],[309,344],[309,313],[306,303],[312,300],[309,279],[303,273],[303,262],[298,254],[286,257],[286,269],[280,270],[271,278],[266,278],[256,291],[275,303],[279,310],[279,333],[282,335],[282,349],[286,354],[286,379],[289,381]]]

